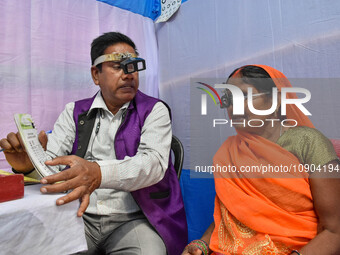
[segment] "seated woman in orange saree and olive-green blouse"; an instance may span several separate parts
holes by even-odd
[[[251,88],[257,110],[272,106],[272,88],[280,95],[291,87],[281,72],[263,65],[236,69],[227,83],[244,94]],[[213,162],[237,171],[214,174],[214,223],[182,254],[340,254],[340,179],[327,171],[339,169],[339,161],[329,140],[294,104],[287,104],[289,125],[283,126],[280,99],[272,114],[253,114],[245,104],[241,116],[233,115],[231,95],[225,100],[230,120],[248,124],[234,125],[237,135],[222,144]],[[255,119],[265,124],[250,125]],[[328,178],[311,174],[310,166],[324,169]]]

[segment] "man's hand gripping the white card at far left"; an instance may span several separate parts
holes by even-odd
[[[39,141],[46,150],[47,135],[44,131],[39,133]],[[0,140],[0,147],[4,149],[7,162],[18,172],[29,172],[33,169],[19,133],[9,133],[7,138]]]

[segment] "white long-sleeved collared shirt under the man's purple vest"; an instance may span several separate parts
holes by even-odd
[[[100,187],[90,196],[88,213],[109,215],[139,211],[130,192],[159,182],[168,167],[171,120],[162,102],[155,104],[144,122],[137,154],[123,160],[116,159],[114,139],[128,106],[126,103],[114,115],[98,92],[89,110],[99,109],[84,158],[99,164],[102,179]],[[68,155],[72,151],[75,140],[73,109],[74,103],[66,105],[48,136],[46,152],[50,157]],[[98,122],[100,127],[96,133]]]

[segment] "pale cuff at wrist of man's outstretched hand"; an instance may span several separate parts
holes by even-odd
[[[122,190],[122,183],[119,181],[119,172],[117,171],[116,164],[110,161],[96,161],[100,167],[102,180],[99,189],[117,189]],[[116,170],[116,171],[115,171]]]

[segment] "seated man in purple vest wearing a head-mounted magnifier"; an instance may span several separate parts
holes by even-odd
[[[46,164],[69,168],[43,178],[51,185],[41,191],[71,190],[57,205],[80,199],[88,251],[79,254],[180,254],[187,224],[170,159],[170,110],[138,90],[145,60],[127,36],[99,36],[91,60],[100,90],[67,104],[59,116],[48,137]],[[47,140],[44,132],[39,136]],[[25,162],[16,170],[29,172]]]

